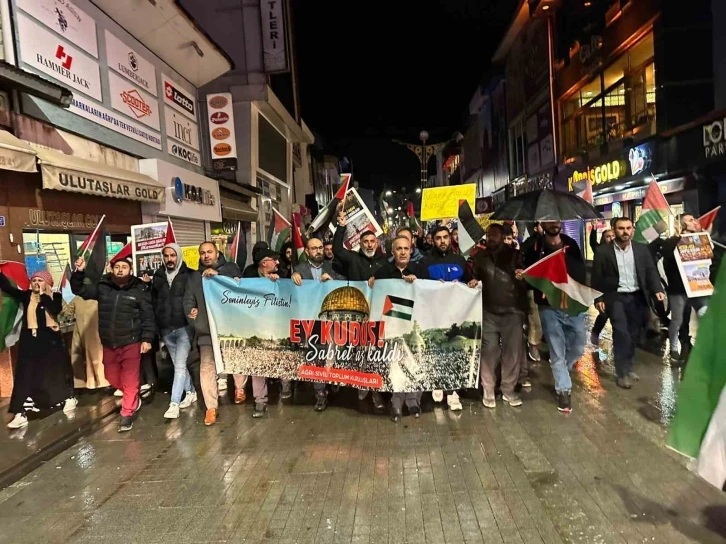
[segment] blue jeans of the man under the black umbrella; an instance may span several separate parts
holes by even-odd
[[[554,308],[540,307],[542,333],[550,348],[550,366],[555,391],[572,390],[570,370],[585,351],[585,314],[568,315]]]

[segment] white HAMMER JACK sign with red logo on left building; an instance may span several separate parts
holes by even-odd
[[[101,74],[95,60],[25,15],[18,13],[17,25],[22,62],[63,86],[102,100]]]

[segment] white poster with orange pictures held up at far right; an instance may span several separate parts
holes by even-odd
[[[711,296],[713,294],[711,235],[707,232],[682,234],[676,245],[675,257],[688,297]]]

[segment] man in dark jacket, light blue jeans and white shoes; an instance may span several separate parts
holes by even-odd
[[[189,408],[197,400],[192,378],[187,370],[192,332],[184,313],[184,292],[191,271],[182,260],[179,245],[165,245],[161,256],[164,266],[156,271],[151,280],[151,302],[159,334],[164,339],[174,364],[171,402],[164,417],[176,419],[179,417],[180,408]]]

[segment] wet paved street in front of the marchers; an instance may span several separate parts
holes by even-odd
[[[568,415],[546,363],[521,408],[429,397],[397,425],[343,392],[315,413],[309,387],[214,427],[165,422],[157,395],[130,433],[107,425],[0,491],[0,542],[726,543],[726,494],[664,446],[681,371],[643,352],[618,389],[607,336]]]

